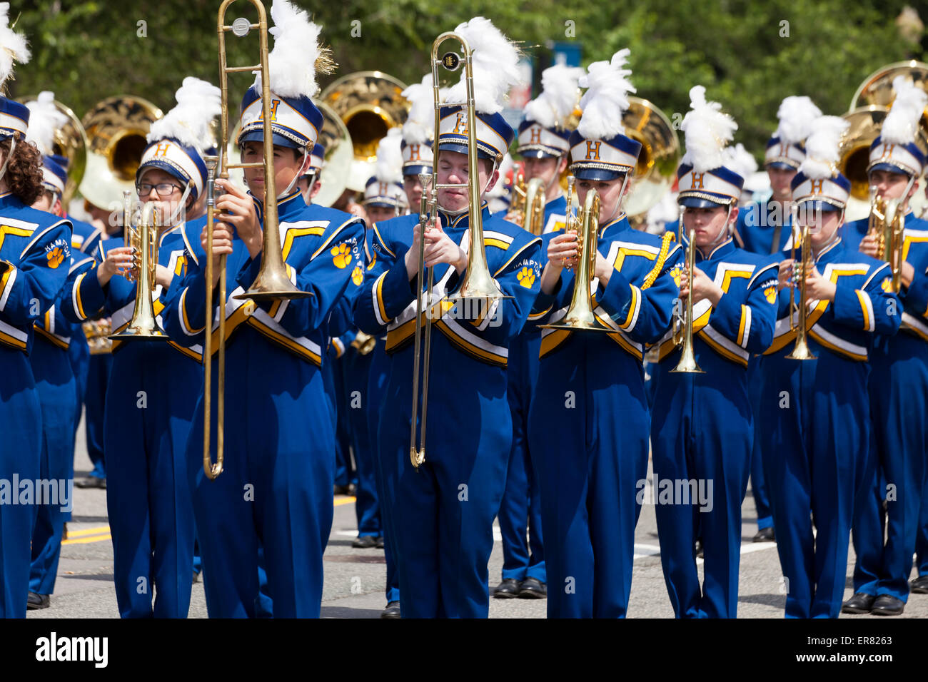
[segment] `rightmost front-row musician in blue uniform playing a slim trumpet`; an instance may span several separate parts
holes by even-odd
[[[760,428],[777,453],[764,467],[787,618],[836,618],[841,610],[848,535],[870,440],[869,347],[872,334],[893,334],[899,326],[888,265],[847,249],[838,231],[850,182],[834,163],[846,127],[837,117],[818,119],[793,178],[797,227],[808,226],[811,244],[808,254],[801,244],[797,249],[797,258],[806,255],[810,265],[799,274],[806,277],[806,301],[799,305],[808,311],[799,325],[806,323],[818,359],[787,357],[800,328],[791,330],[796,313],[787,292],[793,282],[788,251],[780,263],[774,341],[764,358]]]

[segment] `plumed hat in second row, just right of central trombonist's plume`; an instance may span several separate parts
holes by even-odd
[[[541,95],[525,105],[519,124],[519,147],[523,158],[558,158],[570,151],[571,130],[567,121],[574,113],[579,86],[585,71],[561,64],[541,72]]]

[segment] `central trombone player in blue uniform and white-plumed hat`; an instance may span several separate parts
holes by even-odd
[[[499,113],[497,98],[518,80],[518,51],[482,17],[455,32],[470,43],[476,89],[479,173],[470,182],[481,196],[498,180],[497,164],[514,131]],[[440,110],[435,160],[437,182],[469,180],[468,109],[464,83],[448,93]],[[467,264],[469,208],[480,210],[486,260],[496,283],[511,300],[482,310],[476,319],[461,304],[437,302],[432,315],[432,369],[429,421],[424,439],[432,444],[414,467],[406,439],[411,419],[412,337],[416,297],[424,289],[419,274],[419,216],[377,225],[373,252],[379,268],[367,272],[365,292],[355,310],[357,326],[369,334],[387,330],[392,354],[380,414],[380,458],[400,467],[393,500],[393,527],[404,617],[486,617],[489,611],[487,561],[493,548],[493,519],[506,479],[512,422],[506,401],[506,364],[537,292],[540,241],[491,216],[485,201],[469,207],[463,189],[438,190],[438,214],[424,235],[424,267],[434,266],[432,293],[440,301],[461,284]],[[380,272],[380,275],[376,275]],[[389,418],[388,418],[389,415]],[[387,468],[391,465],[385,465]]]

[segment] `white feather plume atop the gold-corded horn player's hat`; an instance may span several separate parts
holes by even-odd
[[[629,54],[631,50],[625,47],[611,61],[594,61],[580,78],[580,87],[588,89],[580,100],[583,116],[577,131],[586,139],[625,134],[622,114],[628,109],[628,94],[635,92],[628,80],[632,72],[625,69]]]

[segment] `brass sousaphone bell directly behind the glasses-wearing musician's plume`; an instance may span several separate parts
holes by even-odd
[[[120,203],[122,192],[135,191],[135,171],[147,145],[151,124],[161,109],[141,97],[108,97],[84,114],[87,164],[81,194],[99,208]]]

